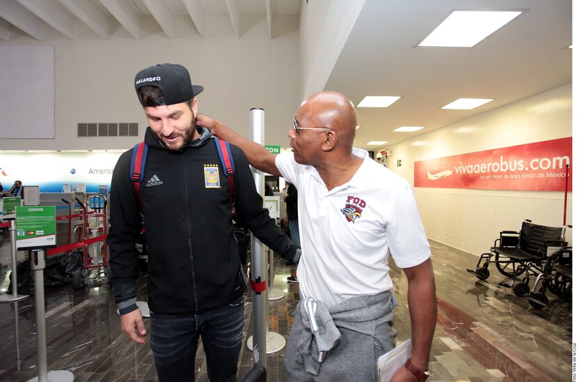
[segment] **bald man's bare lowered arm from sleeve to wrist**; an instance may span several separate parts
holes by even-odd
[[[437,320],[437,302],[430,260],[427,265],[420,266],[428,269],[423,269],[412,277],[408,275],[407,303],[412,321],[412,363],[424,370],[428,368],[430,358]]]

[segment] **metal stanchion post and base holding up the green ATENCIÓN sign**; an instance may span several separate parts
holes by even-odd
[[[72,382],[75,375],[65,370],[47,372],[46,319],[44,310],[44,250],[30,250],[30,269],[34,272],[34,303],[36,305],[36,349],[38,351],[38,376],[30,379],[40,382]]]

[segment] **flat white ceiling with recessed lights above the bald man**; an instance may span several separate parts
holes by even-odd
[[[310,0],[311,1],[311,0]],[[416,47],[452,10],[523,10],[472,48]],[[386,109],[357,108],[355,146],[390,144],[572,82],[570,0],[367,0],[325,89],[355,105],[400,95]],[[495,98],[442,110],[458,98]],[[425,126],[419,132],[392,132]],[[547,126],[545,126],[547,128]]]

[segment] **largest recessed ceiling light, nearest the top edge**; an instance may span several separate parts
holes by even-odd
[[[520,10],[454,10],[419,46],[473,47],[520,13]]]

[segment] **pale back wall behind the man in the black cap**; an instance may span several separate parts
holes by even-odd
[[[279,29],[285,33],[270,39],[265,17],[244,19],[243,34],[236,38],[228,16],[210,16],[205,40],[194,31],[170,40],[150,17],[143,17],[141,29],[146,36],[139,40],[112,19],[108,40],[98,38],[81,22],[76,24],[77,40],[68,40],[48,27],[42,42],[11,29],[10,41],[0,44],[55,47],[56,137],[2,139],[0,149],[132,147],[143,138],[147,126],[134,91],[134,75],[164,62],[181,63],[195,84],[205,86],[198,97],[199,112],[221,119],[249,137],[249,109],[262,107],[265,144],[285,146],[300,100],[299,20],[297,16],[280,17],[276,23],[283,23]],[[219,32],[226,31],[227,25],[231,33]],[[33,113],[34,105],[29,108]],[[77,137],[77,123],[99,122],[138,122],[140,137]]]

